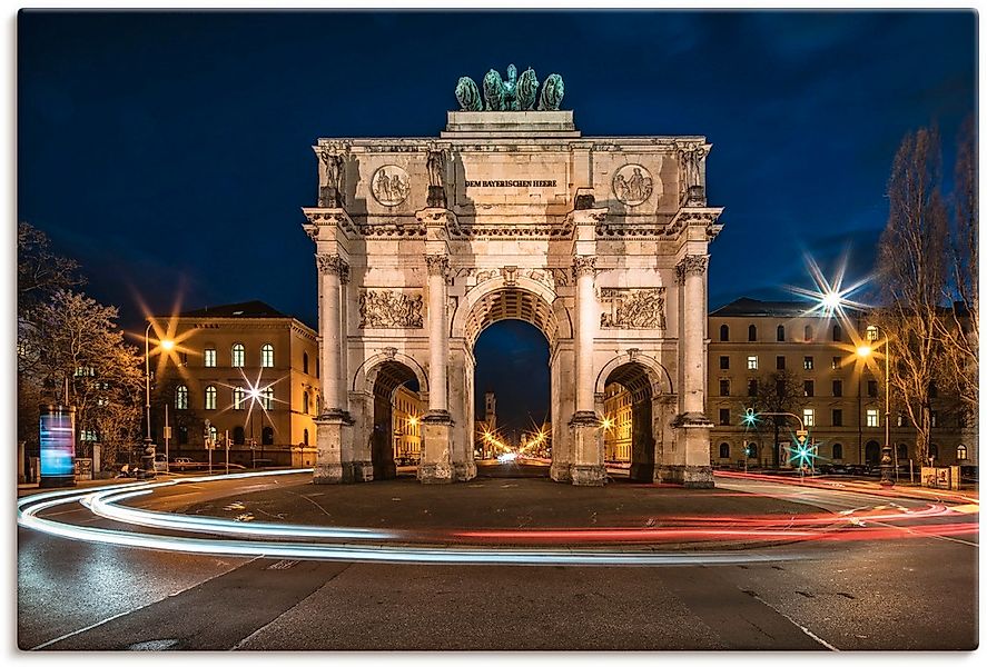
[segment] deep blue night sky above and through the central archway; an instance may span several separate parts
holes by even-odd
[[[849,250],[871,267],[902,136],[938,125],[948,173],[976,107],[977,17],[956,12],[24,11],[17,217],[76,258],[121,325],[259,299],[316,325],[318,137],[437,136],[461,76],[559,72],[584,136],[704,135],[723,206],[710,306],[787,298]],[[501,323],[477,391],[541,419],[544,338]],[[505,364],[485,362],[492,357]],[[485,369],[494,369],[485,370]],[[523,385],[523,386],[521,386]],[[510,395],[510,396],[507,396]],[[482,414],[482,412],[478,412]]]

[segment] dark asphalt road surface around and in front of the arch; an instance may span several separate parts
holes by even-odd
[[[892,502],[922,505],[907,498]],[[351,519],[348,525],[358,525],[379,517],[377,524],[388,525],[426,526],[432,520],[531,527],[561,525],[566,518],[582,526],[593,525],[593,519],[596,525],[615,525],[622,517],[626,525],[640,525],[683,512],[699,519],[724,512],[796,519],[819,508],[840,512],[887,507],[889,499],[836,487],[736,479],[720,479],[713,490],[688,491],[626,482],[582,489],[532,478],[477,479],[447,487],[424,487],[409,479],[314,487],[296,477],[184,485],[135,501],[195,515],[221,515],[234,504],[244,506],[235,511],[253,511],[258,520],[298,521],[304,518],[300,509],[299,516],[285,517],[284,508],[304,506],[306,517],[318,516],[326,524]],[[110,525],[81,507],[58,518]],[[901,535],[900,539],[751,544],[744,551],[751,561],[729,566],[516,567],[219,558],[71,541],[19,528],[18,646],[26,650],[976,648],[976,537]],[[778,558],[753,559],[763,554]],[[792,554],[805,559],[781,558]]]

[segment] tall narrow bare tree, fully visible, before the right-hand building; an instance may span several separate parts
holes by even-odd
[[[947,213],[935,129],[907,135],[888,180],[888,222],[878,247],[885,308],[880,323],[892,359],[890,384],[916,429],[916,456],[928,461],[930,388],[941,364],[938,319],[947,276]]]

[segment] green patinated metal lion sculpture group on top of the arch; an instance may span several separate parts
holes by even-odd
[[[497,70],[490,70],[483,77],[483,99],[480,88],[470,77],[460,77],[456,83],[456,100],[461,111],[532,111],[535,110],[539,80],[534,70],[527,68],[517,77],[517,68],[507,66],[507,78],[502,79]],[[562,103],[565,87],[560,74],[550,74],[542,86],[537,111],[557,111]],[[485,104],[484,104],[485,102]]]

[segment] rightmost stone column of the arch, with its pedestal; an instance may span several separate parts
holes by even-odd
[[[683,464],[662,461],[659,477],[687,487],[711,488],[710,429],[705,412],[705,269],[709,257],[687,255],[675,266],[675,282],[684,292],[680,313],[679,364],[682,368],[682,411],[675,417],[675,458]]]

